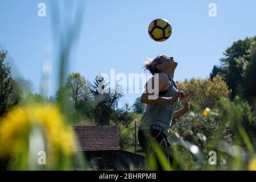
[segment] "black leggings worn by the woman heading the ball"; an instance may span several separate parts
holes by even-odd
[[[167,159],[168,167],[170,167],[172,163],[172,157],[169,151],[171,142],[162,131],[155,129],[139,130],[138,140],[146,154],[146,159],[151,169],[159,171],[164,170],[163,165],[159,161],[159,154],[156,154],[158,150],[160,150],[160,154],[163,154],[165,159]],[[156,147],[154,143],[157,144]],[[158,148],[158,150],[156,150],[156,148]],[[156,165],[152,164],[152,160],[155,160]]]

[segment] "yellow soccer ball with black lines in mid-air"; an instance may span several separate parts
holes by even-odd
[[[148,34],[153,40],[163,42],[170,38],[172,27],[166,19],[155,19],[148,26]]]

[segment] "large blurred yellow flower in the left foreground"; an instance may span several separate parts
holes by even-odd
[[[65,117],[55,105],[28,105],[15,107],[0,118],[0,157],[28,147],[32,125],[42,127],[48,148],[72,154],[72,128],[64,123]]]

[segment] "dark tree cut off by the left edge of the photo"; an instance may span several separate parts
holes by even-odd
[[[13,92],[11,68],[5,64],[7,52],[0,49],[0,116],[9,109],[10,96]]]

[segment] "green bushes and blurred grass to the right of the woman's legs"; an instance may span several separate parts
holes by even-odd
[[[256,148],[255,113],[239,97],[234,101],[221,97],[208,116],[204,116],[203,111],[191,111],[175,119],[171,130],[171,138],[178,134],[181,140],[200,147],[207,156],[205,160],[209,151],[217,152],[217,165],[207,164],[201,169],[247,169],[245,161],[251,159]],[[185,169],[200,169],[196,167],[193,155],[185,152],[184,147],[179,146],[178,151]]]

